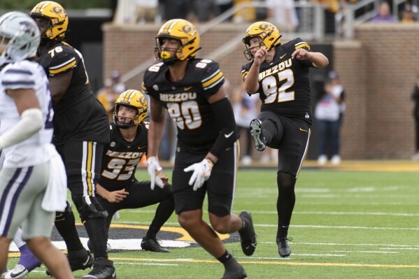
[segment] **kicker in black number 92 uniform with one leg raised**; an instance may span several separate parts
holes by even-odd
[[[308,150],[311,134],[310,67],[322,68],[329,60],[311,52],[308,43],[296,38],[281,45],[278,29],[269,22],[255,22],[243,38],[245,57],[241,77],[248,94],[259,93],[261,113],[250,122],[255,148],[278,149],[278,231],[280,257],[291,254],[288,227],[295,204],[294,186]]]

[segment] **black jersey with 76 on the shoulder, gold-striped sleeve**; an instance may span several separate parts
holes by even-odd
[[[54,143],[69,140],[108,143],[108,116],[90,87],[83,56],[68,43],[53,45],[38,61],[52,78],[73,69],[67,91],[54,108]]]

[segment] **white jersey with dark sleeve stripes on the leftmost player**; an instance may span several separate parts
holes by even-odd
[[[20,121],[15,101],[6,90],[33,89],[41,106],[44,127],[26,140],[3,149],[4,168],[35,166],[50,161],[48,145],[52,140],[52,110],[48,78],[42,66],[23,60],[7,64],[0,72],[0,134]]]

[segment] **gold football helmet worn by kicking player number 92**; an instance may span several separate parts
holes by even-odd
[[[276,28],[274,24],[264,21],[253,23],[246,30],[246,34],[244,34],[243,43],[246,45],[246,50],[243,52],[244,56],[248,60],[254,58],[251,49],[249,48],[250,38],[261,38],[262,42],[259,47],[262,48],[262,46],[265,46],[267,50],[270,50],[280,43],[281,36],[278,28]]]

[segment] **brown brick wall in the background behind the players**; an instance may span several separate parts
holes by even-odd
[[[110,76],[114,69],[127,73],[154,57],[158,29],[155,24],[105,24],[104,76]],[[232,24],[216,27],[201,36],[203,49],[197,57],[206,57],[245,30],[246,26]],[[346,88],[343,159],[403,159],[413,154],[411,93],[419,73],[416,45],[419,24],[362,24],[355,30],[355,40],[333,43],[333,67]],[[243,44],[239,44],[218,59],[233,88],[241,83],[241,65],[247,62],[243,50]],[[139,89],[142,74],[129,80],[128,87]]]

